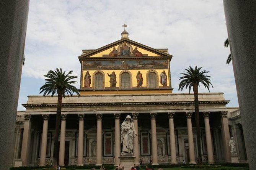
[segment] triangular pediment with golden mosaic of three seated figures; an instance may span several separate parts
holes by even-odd
[[[83,54],[78,56],[83,58],[115,58],[115,57],[172,57],[167,53],[168,49],[154,49],[137,43],[127,38],[105,45],[96,50],[83,50]],[[163,52],[165,51],[165,52]]]

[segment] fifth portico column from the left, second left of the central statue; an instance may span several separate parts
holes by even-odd
[[[96,143],[96,166],[102,165],[102,114],[96,114],[97,117],[97,143]]]

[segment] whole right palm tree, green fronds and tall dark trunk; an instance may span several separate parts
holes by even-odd
[[[198,86],[199,83],[202,83],[205,88],[209,90],[210,85],[212,86],[212,83],[210,82],[209,75],[205,75],[208,73],[208,71],[201,71],[202,67],[193,69],[192,67],[188,67],[185,70],[184,73],[181,73],[183,75],[182,77],[179,77],[179,80],[181,82],[179,83],[179,90],[183,90],[183,88],[188,88],[189,93],[191,91],[191,87],[193,87],[194,91],[194,103],[195,103],[195,112],[196,112],[196,138],[197,138],[197,151],[199,154],[198,162],[199,164],[202,164],[202,153],[201,153],[201,140],[200,140],[200,121],[199,121],[199,102],[198,102]],[[213,87],[213,86],[212,86]],[[210,92],[210,90],[209,90]]]

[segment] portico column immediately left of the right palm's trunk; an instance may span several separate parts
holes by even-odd
[[[189,144],[189,164],[196,164],[195,150],[194,150],[194,137],[192,130],[192,112],[186,112],[187,126],[188,126],[188,144]],[[200,142],[200,141],[199,141]]]

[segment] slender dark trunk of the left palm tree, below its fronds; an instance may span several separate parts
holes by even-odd
[[[53,148],[53,165],[57,167],[57,157],[59,154],[59,132],[60,132],[60,115],[61,115],[62,94],[58,94],[55,134],[54,134],[54,148]]]

